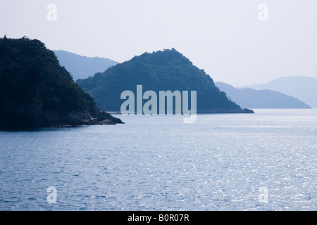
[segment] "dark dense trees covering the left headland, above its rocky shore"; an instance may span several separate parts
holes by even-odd
[[[0,87],[17,103],[42,103],[44,110],[89,108],[92,98],[68,71],[58,66],[53,51],[36,39],[0,39]]]

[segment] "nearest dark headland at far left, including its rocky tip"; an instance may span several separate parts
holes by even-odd
[[[0,39],[0,129],[117,124],[37,39]]]

